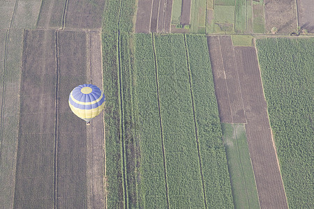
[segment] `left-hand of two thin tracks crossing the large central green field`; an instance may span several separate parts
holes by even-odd
[[[165,169],[165,190],[166,190],[166,197],[167,197],[167,208],[169,209],[170,203],[169,203],[168,184],[167,184],[167,167],[166,167],[166,160],[165,160],[165,144],[164,144],[164,139],[163,139],[163,123],[161,121],[160,95],[159,95],[159,83],[158,83],[158,66],[157,66],[157,61],[156,61],[156,48],[155,48],[154,33],[151,33],[151,43],[152,43],[153,52],[154,52],[160,137],[161,137],[161,147],[163,150],[163,168]]]

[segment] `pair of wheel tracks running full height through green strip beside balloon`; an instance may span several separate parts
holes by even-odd
[[[124,208],[128,208],[128,182],[126,179],[126,144],[124,143],[124,91],[123,91],[123,77],[121,72],[121,31],[120,31],[120,20],[121,20],[121,8],[124,0],[120,1],[119,6],[119,16],[117,24],[117,60],[118,60],[118,70],[119,70],[119,106],[120,106],[120,139],[121,139],[121,160],[122,160],[122,179],[124,181]]]

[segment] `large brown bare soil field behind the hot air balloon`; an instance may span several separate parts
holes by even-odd
[[[25,31],[15,208],[104,206],[103,117],[68,107],[75,86],[102,86],[100,50],[100,31]]]

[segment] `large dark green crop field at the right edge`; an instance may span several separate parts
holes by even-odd
[[[313,208],[314,38],[257,40],[269,121],[290,208]]]

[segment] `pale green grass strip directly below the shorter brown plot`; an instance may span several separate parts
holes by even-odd
[[[244,124],[222,123],[235,208],[260,208]]]

